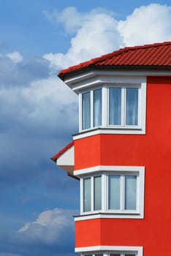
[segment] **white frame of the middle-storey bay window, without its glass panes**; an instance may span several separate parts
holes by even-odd
[[[108,209],[108,176],[136,175],[137,176],[137,207],[136,210],[109,210]],[[99,215],[104,218],[131,218],[143,219],[144,217],[144,187],[145,187],[145,167],[142,166],[96,166],[86,169],[75,170],[74,175],[80,178],[80,219],[96,219]],[[94,193],[91,188],[91,211],[83,211],[83,178],[102,176],[102,211],[92,211],[94,207]],[[94,183],[94,182],[93,182]],[[92,184],[92,182],[91,182]]]

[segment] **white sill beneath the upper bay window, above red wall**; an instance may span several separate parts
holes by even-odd
[[[127,134],[127,135],[145,135],[145,129],[140,127],[97,127],[93,129],[83,130],[75,135],[73,139],[89,137],[99,134]]]

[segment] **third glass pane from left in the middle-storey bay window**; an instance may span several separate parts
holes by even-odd
[[[109,209],[119,210],[120,209],[120,184],[121,176],[110,175],[109,176]]]

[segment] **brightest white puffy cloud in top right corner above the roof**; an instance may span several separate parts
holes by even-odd
[[[150,4],[136,8],[126,20],[119,21],[118,30],[126,46],[171,40],[171,6]]]

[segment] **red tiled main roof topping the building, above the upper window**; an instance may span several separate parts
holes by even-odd
[[[85,61],[76,66],[68,67],[59,72],[64,79],[68,73],[86,67],[171,67],[171,42],[161,42],[151,45],[126,47],[115,50],[99,58]]]

